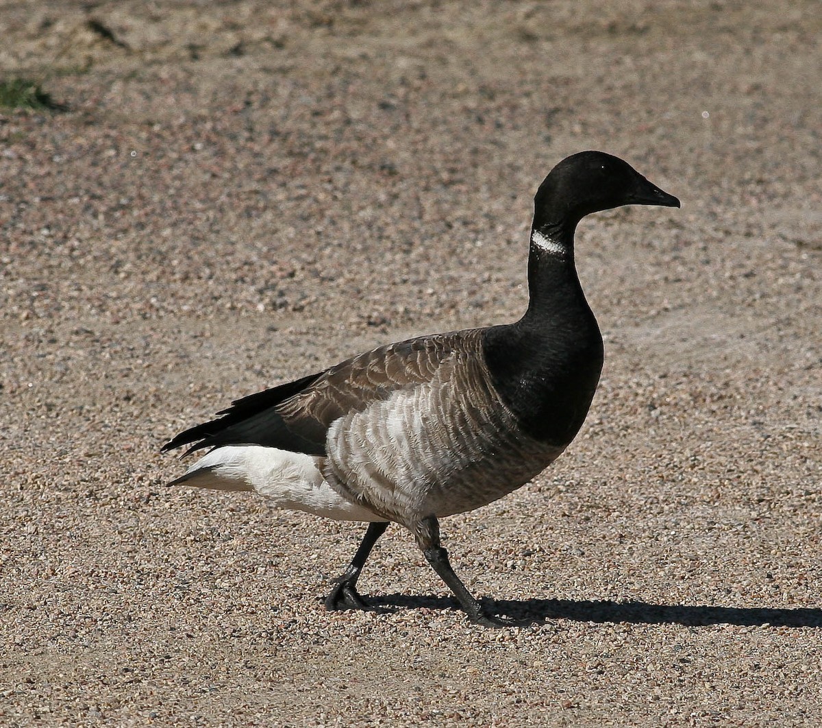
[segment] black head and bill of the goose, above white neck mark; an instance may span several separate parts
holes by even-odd
[[[539,186],[533,227],[572,231],[584,216],[622,205],[680,206],[619,157],[580,151],[556,165]]]

